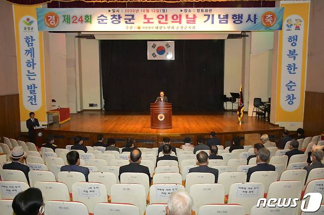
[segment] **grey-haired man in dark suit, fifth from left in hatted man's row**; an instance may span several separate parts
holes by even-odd
[[[251,167],[248,170],[246,181],[249,182],[252,173],[258,171],[276,171],[275,166],[268,164],[270,151],[266,148],[260,148],[257,155],[257,166]]]

